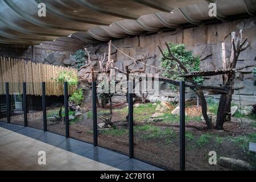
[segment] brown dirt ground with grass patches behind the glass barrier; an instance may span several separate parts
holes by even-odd
[[[129,138],[126,121],[126,112],[119,112],[126,106],[119,106],[113,112],[113,123],[117,129],[98,130],[99,146],[129,154]],[[98,113],[108,111],[98,109]],[[195,106],[187,109],[187,113],[197,116]],[[100,116],[98,116],[99,118]],[[135,117],[136,120],[136,117]],[[23,114],[11,117],[11,122],[23,125]],[[43,129],[42,112],[28,113],[28,126]],[[98,123],[102,123],[98,119]],[[233,142],[236,137],[247,136],[256,133],[255,127],[240,122],[239,118],[232,118],[232,122],[224,123],[224,130],[209,130],[204,122],[186,122],[186,169],[187,170],[227,170],[218,165],[208,163],[209,151],[216,151],[217,156],[241,159],[255,165],[256,156],[248,154],[248,151],[238,143]],[[63,122],[47,121],[48,131],[65,135]],[[93,142],[92,118],[82,118],[70,124],[70,136],[85,142]],[[147,127],[147,129],[144,129]],[[162,135],[159,131],[166,131]],[[189,137],[190,136],[190,137]],[[205,142],[205,138],[206,142]],[[216,139],[221,139],[216,141]],[[239,138],[238,138],[239,139]],[[236,140],[235,140],[236,141]],[[238,140],[239,142],[239,140]],[[168,170],[179,170],[179,122],[135,122],[134,123],[134,156],[135,158],[152,163],[155,166]]]

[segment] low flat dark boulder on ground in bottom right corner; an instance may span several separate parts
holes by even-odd
[[[232,170],[238,170],[238,171],[253,170],[251,165],[249,163],[244,162],[243,160],[220,157],[217,160],[217,164],[218,166],[225,167]]]

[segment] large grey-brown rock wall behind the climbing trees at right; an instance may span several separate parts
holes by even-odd
[[[256,104],[256,86],[253,85],[255,80],[251,71],[256,65],[256,18],[235,20],[234,22],[225,22],[221,24],[202,25],[193,28],[187,28],[184,30],[176,30],[174,32],[158,32],[154,35],[140,35],[133,36],[125,39],[113,40],[113,44],[125,52],[127,55],[139,59],[143,54],[149,52],[150,59],[148,64],[159,67],[160,51],[157,48],[159,45],[161,48],[166,48],[165,42],[172,43],[184,43],[187,45],[187,49],[191,50],[194,55],[200,55],[201,69],[218,69],[222,68],[221,59],[221,43],[226,44],[226,59],[230,56],[230,33],[232,31],[239,32],[243,30],[243,38],[249,38],[251,44],[250,47],[243,51],[239,57],[237,63],[236,73],[236,88],[233,96],[233,102],[238,104],[240,98],[242,105]],[[93,60],[100,59],[104,53],[108,53],[108,44],[88,44]],[[114,60],[114,66],[120,69],[124,69],[126,65],[130,65],[133,61],[123,55],[117,49],[112,47],[112,59]],[[131,65],[129,68],[133,67]],[[147,73],[161,73],[161,71],[147,67]],[[82,75],[82,74],[81,74]],[[221,76],[207,77],[205,84],[208,85],[221,85]],[[175,100],[177,94],[171,92],[168,86],[165,84],[160,85],[160,100]],[[239,92],[241,97],[239,97]],[[207,94],[207,93],[206,93]],[[187,92],[187,99],[194,97],[192,92]],[[213,100],[218,100],[220,96],[212,95]],[[157,98],[152,97],[151,100]]]

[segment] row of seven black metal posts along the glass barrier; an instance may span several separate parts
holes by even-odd
[[[129,129],[129,158],[134,158],[134,131],[133,131],[133,87],[128,84],[127,98],[128,98],[128,129]],[[7,123],[10,123],[10,94],[9,82],[5,84],[6,91],[6,117]],[[23,82],[23,111],[24,111],[24,127],[27,127],[27,90],[26,82]],[[180,171],[185,170],[185,84],[180,81],[179,84],[180,95]],[[93,112],[93,145],[98,146],[98,130],[97,130],[97,92],[96,82],[92,82],[92,112]],[[64,82],[64,107],[65,107],[65,137],[69,138],[69,117],[68,117],[68,82]],[[43,131],[47,131],[47,114],[46,114],[46,82],[42,82],[42,108],[43,108]]]

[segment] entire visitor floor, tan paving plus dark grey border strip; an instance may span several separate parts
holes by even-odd
[[[162,170],[92,144],[0,122],[0,170]],[[38,152],[46,151],[46,165]]]

